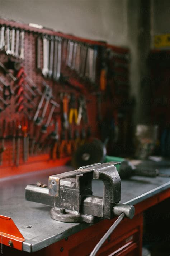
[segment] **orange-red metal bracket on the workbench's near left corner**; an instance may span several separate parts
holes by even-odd
[[[22,250],[23,235],[10,217],[0,215],[0,241],[2,244]]]

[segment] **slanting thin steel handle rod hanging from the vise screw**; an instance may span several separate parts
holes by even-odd
[[[94,247],[93,251],[90,253],[89,256],[95,256],[96,255],[96,253],[99,251],[99,249],[102,246],[102,244],[106,241],[106,239],[113,232],[113,230],[117,227],[117,225],[121,222],[121,220],[123,220],[124,217],[125,217],[125,214],[122,213],[118,217],[118,219],[113,223],[113,225],[108,229],[108,231],[104,234],[104,236],[100,239],[98,244],[96,244],[96,246]]]

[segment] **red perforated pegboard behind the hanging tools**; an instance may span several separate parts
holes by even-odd
[[[71,130],[72,130],[72,135],[74,133],[74,130],[77,129],[79,130],[79,134],[81,134],[81,130],[82,127],[85,128],[87,130],[88,126],[90,126],[91,128],[91,132],[92,135],[94,137],[100,137],[100,127],[99,127],[99,120],[98,120],[98,114],[97,114],[97,98],[94,92],[96,91],[100,91],[100,87],[99,87],[99,82],[100,82],[100,55],[98,55],[98,59],[97,59],[97,76],[96,76],[96,84],[98,84],[98,87],[93,88],[93,86],[91,84],[89,84],[89,82],[81,79],[80,77],[77,76],[76,72],[72,71],[70,68],[68,68],[65,64],[65,62],[62,62],[61,65],[61,73],[64,74],[65,76],[69,77],[69,82],[70,84],[72,84],[72,86],[69,86],[68,83],[61,83],[61,82],[56,82],[53,81],[51,79],[45,79],[42,76],[41,71],[38,71],[36,68],[36,43],[37,43],[37,37],[41,36],[42,34],[46,34],[46,35],[53,35],[53,36],[59,36],[62,39],[69,39],[69,40],[74,40],[77,42],[81,42],[81,43],[85,43],[88,45],[97,45],[99,48],[100,47],[104,47],[104,48],[108,48],[111,49],[112,51],[115,51],[117,53],[121,53],[121,54],[127,54],[129,53],[128,49],[123,49],[123,48],[119,48],[119,47],[115,47],[115,46],[111,46],[111,45],[107,45],[105,42],[99,42],[99,41],[92,41],[92,40],[87,40],[87,39],[81,39],[75,36],[71,36],[71,35],[65,35],[63,33],[60,32],[55,32],[52,30],[48,30],[48,29],[37,29],[37,28],[33,28],[30,27],[26,24],[22,24],[22,23],[17,23],[14,21],[8,21],[8,20],[4,20],[4,19],[0,19],[0,26],[4,25],[5,26],[10,26],[15,27],[15,28],[19,28],[20,30],[24,30],[25,31],[25,40],[24,40],[24,55],[25,58],[22,62],[22,67],[24,68],[24,71],[27,73],[28,77],[34,82],[34,84],[36,84],[36,86],[39,88],[39,90],[43,91],[43,85],[42,85],[42,81],[45,81],[46,84],[48,84],[51,88],[52,88],[52,92],[53,92],[53,100],[55,100],[57,103],[60,104],[60,107],[55,109],[55,112],[53,114],[53,122],[51,122],[51,125],[48,127],[47,133],[46,133],[46,138],[48,141],[48,135],[53,131],[54,129],[54,121],[58,120],[59,123],[59,134],[61,136],[61,132],[62,132],[62,125],[61,125],[61,116],[62,116],[62,101],[60,98],[60,93],[74,93],[76,95],[76,108],[78,108],[78,102],[77,102],[77,98],[83,94],[86,97],[86,104],[87,104],[87,112],[88,112],[88,123],[84,124],[81,122],[80,126],[77,126],[75,123],[73,123],[71,125]],[[62,40],[62,44],[63,44]],[[41,68],[43,66],[43,44],[42,44],[42,40],[41,40]],[[62,53],[63,54],[63,53]],[[0,62],[3,63],[4,65],[7,63],[9,56],[6,55],[5,51],[1,51],[0,52]],[[10,59],[12,61],[16,60],[14,57],[10,56]],[[112,59],[112,62],[115,61],[115,59]],[[110,60],[111,62],[111,60]],[[118,60],[119,62],[119,60]],[[120,60],[120,62],[122,62],[122,60]],[[113,67],[114,68],[114,67]],[[14,76],[16,76],[16,72],[11,71],[13,73]],[[128,72],[128,71],[127,71]],[[0,76],[1,78],[3,78],[3,80],[6,82],[6,84],[10,84],[11,88],[15,91],[16,89],[16,83],[14,81],[12,81],[9,76],[7,76],[6,74],[4,74],[2,72],[2,69],[0,71]],[[113,99],[110,97],[103,97],[103,95],[105,94],[105,92],[101,92],[101,95],[103,97],[102,102],[101,102],[101,115],[102,117],[106,116],[106,114],[108,112],[113,113],[114,109],[118,110],[121,105],[122,105],[122,101],[124,100],[124,95],[116,95],[115,91],[114,91],[114,76],[111,76],[108,78],[108,84],[109,86],[112,88],[111,92],[112,92],[112,96],[114,96],[114,101]],[[127,88],[128,91],[128,88]],[[127,96],[127,95],[126,95]],[[37,106],[39,103],[41,96],[37,96],[33,102],[34,104]],[[5,119],[7,123],[11,122],[11,120],[15,120],[16,122],[22,122],[23,118],[25,117],[26,113],[25,112],[21,112],[21,113],[17,113],[16,112],[16,96],[12,96],[11,100],[9,101],[10,105],[5,109],[5,111],[1,112],[1,124],[2,121]],[[32,107],[32,102],[28,103],[27,105],[30,105],[30,107]],[[44,104],[43,104],[44,106]],[[42,106],[42,107],[43,107]],[[48,117],[50,111],[50,107],[48,107],[47,109],[47,113],[46,113],[46,118],[44,119],[44,122],[46,122],[46,119]],[[42,112],[42,110],[41,110]],[[33,109],[32,112],[29,113],[29,116],[27,116],[28,121],[29,121],[29,138],[30,138],[30,143],[32,142],[32,139],[34,137],[35,134],[37,134],[37,137],[39,136],[39,129],[40,127],[35,126],[32,122],[33,116],[35,113],[35,109]],[[35,131],[36,130],[36,131]],[[67,140],[67,132],[66,131],[66,140]],[[36,137],[36,139],[37,139]],[[2,140],[2,139],[1,139]],[[16,137],[16,141],[17,142],[17,137]],[[18,172],[20,172],[22,169],[25,171],[28,171],[29,168],[26,168],[25,166],[31,166],[31,171],[33,170],[37,170],[38,169],[44,169],[47,166],[54,166],[54,165],[58,165],[58,163],[62,164],[62,163],[66,163],[66,161],[68,161],[70,159],[70,155],[68,155],[67,153],[65,154],[65,156],[63,156],[63,161],[57,159],[56,161],[51,161],[49,160],[49,147],[46,148],[46,150],[44,151],[39,151],[37,156],[29,156],[29,159],[27,162],[23,161],[23,136],[20,139],[20,161],[19,161],[19,166],[16,167],[15,164],[11,161],[11,155],[12,155],[12,141],[11,138],[7,135],[5,138],[5,151],[3,152],[3,164],[0,167],[0,169],[4,168],[3,174],[1,172],[1,176],[8,176],[13,174],[17,174]],[[15,150],[15,154],[16,154],[16,150]],[[16,158],[16,157],[15,157]],[[46,165],[44,165],[44,161],[46,161]],[[31,164],[31,165],[30,165]],[[18,170],[18,171],[17,171]]]

